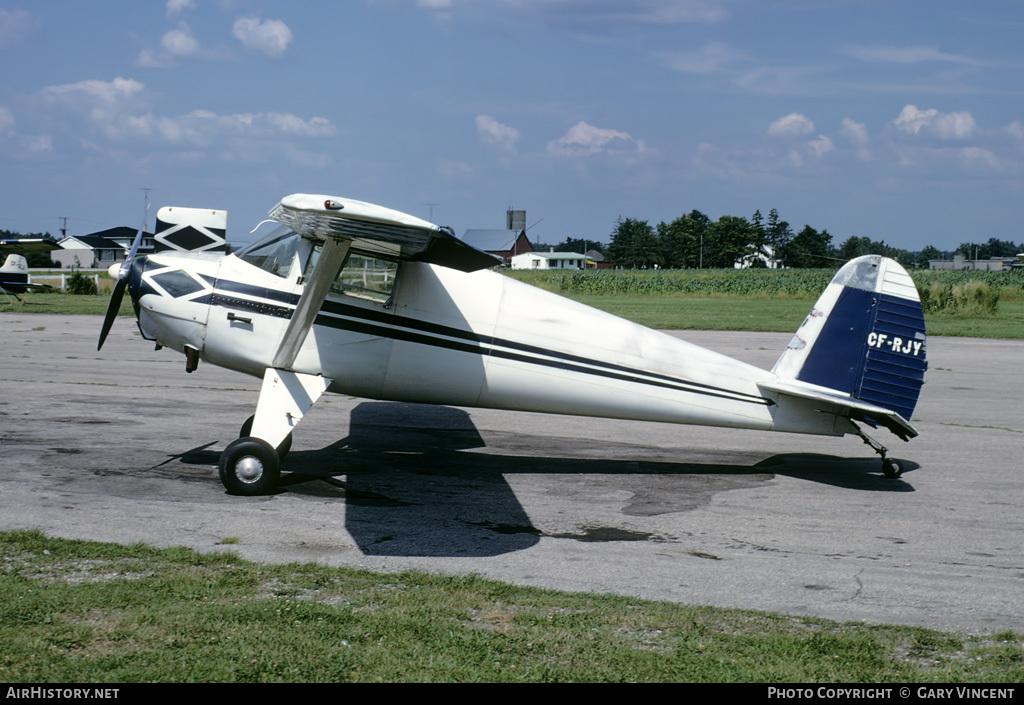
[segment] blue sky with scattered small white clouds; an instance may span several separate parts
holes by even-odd
[[[0,229],[137,226],[147,188],[237,243],[299,192],[1019,242],[1022,35],[1018,0],[3,0]]]

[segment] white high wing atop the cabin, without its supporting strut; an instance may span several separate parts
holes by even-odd
[[[345,241],[354,249],[398,259],[461,272],[501,263],[500,258],[459,240],[451,229],[362,201],[295,194],[282,199],[270,217],[307,238]]]

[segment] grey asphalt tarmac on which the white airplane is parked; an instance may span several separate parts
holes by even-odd
[[[1022,340],[932,338],[899,480],[855,437],[328,396],[282,491],[225,494],[258,380],[119,320],[7,314],[0,529],[261,562],[478,574],[688,605],[1024,631]],[[788,334],[683,331],[771,367]],[[223,545],[225,539],[238,543]]]

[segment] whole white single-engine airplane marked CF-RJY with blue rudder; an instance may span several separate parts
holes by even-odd
[[[498,259],[394,210],[297,194],[279,226],[224,255],[226,213],[163,208],[157,252],[117,277],[143,337],[262,377],[256,413],[220,456],[228,492],[278,484],[292,431],[325,391],[821,436],[857,425],[904,441],[924,383],[918,291],[897,262],[859,257],[836,275],[768,371],[522,284]],[[163,251],[160,251],[163,250]],[[182,250],[182,251],[173,251]]]

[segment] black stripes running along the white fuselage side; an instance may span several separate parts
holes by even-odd
[[[240,282],[226,282],[217,280],[217,288],[237,293],[244,293],[263,298],[273,298],[274,300],[292,303],[297,302],[299,297],[295,294],[275,292],[276,296],[269,296],[268,290],[264,287],[246,285]],[[213,305],[228,308],[241,308],[253,313],[264,313],[276,318],[291,318],[292,308],[285,306],[273,306],[259,301],[250,301],[237,297],[214,294],[210,301]],[[345,317],[345,318],[342,318]],[[600,360],[584,358],[568,352],[561,352],[537,345],[520,343],[515,340],[497,338],[493,335],[480,335],[472,331],[461,328],[453,328],[429,321],[397,316],[383,310],[368,309],[353,306],[338,301],[325,301],[316,316],[314,325],[326,326],[338,330],[346,330],[364,335],[374,335],[393,340],[403,340],[422,345],[442,347],[445,349],[472,355],[493,356],[503,360],[511,360],[526,364],[541,365],[559,370],[581,372],[584,374],[605,377],[608,379],[618,379],[638,384],[647,384],[667,389],[689,391],[707,397],[717,397],[719,399],[729,399],[748,404],[758,404],[771,406],[774,404],[769,399],[748,395],[739,391],[731,391],[710,384],[691,382],[670,375],[656,372],[647,372],[624,365],[615,365]],[[440,337],[443,336],[443,337]],[[504,348],[504,349],[503,349]],[[534,356],[545,356],[534,357]],[[595,369],[596,368],[596,369]]]

